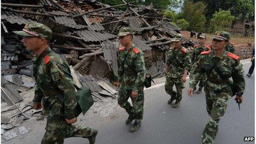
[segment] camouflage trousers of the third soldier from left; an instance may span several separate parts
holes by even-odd
[[[174,85],[177,89],[177,92],[173,90]],[[182,89],[185,88],[185,86],[181,80],[181,77],[173,78],[166,76],[166,83],[164,84],[164,88],[171,98],[176,99],[176,102],[180,102],[182,100]]]

